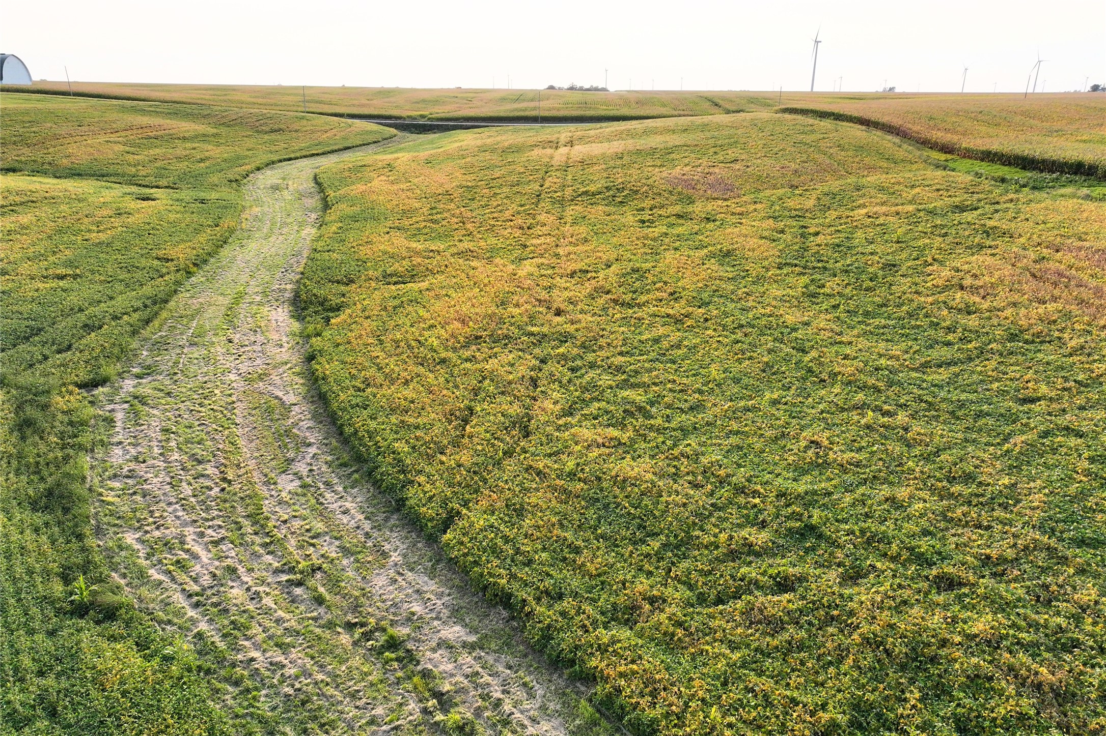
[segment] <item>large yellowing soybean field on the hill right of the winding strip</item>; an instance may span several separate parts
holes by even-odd
[[[324,168],[326,401],[655,734],[1106,727],[1106,207],[783,115]]]

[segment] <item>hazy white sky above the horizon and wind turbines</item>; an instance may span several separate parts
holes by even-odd
[[[1106,83],[1104,0],[32,0],[0,51],[34,78],[411,87],[1022,91]]]

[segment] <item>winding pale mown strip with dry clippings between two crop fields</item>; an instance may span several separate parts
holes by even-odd
[[[100,392],[115,429],[97,534],[128,593],[265,732],[611,733],[354,474],[310,387],[291,304],[314,172],[404,138],[250,178],[231,242]]]

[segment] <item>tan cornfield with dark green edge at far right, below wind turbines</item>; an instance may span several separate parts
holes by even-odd
[[[783,111],[862,123],[966,158],[1106,179],[1106,95],[807,95]]]

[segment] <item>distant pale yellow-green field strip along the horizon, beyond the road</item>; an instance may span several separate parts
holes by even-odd
[[[12,90],[12,87],[6,87]],[[32,87],[67,94],[64,82],[35,82]],[[535,120],[536,90],[411,90],[400,87],[316,87],[211,84],[136,84],[74,82],[79,95],[228,107],[306,109],[325,115],[437,120]],[[755,92],[575,92],[542,90],[543,122],[625,120],[680,115],[722,115],[763,109],[775,103]]]

